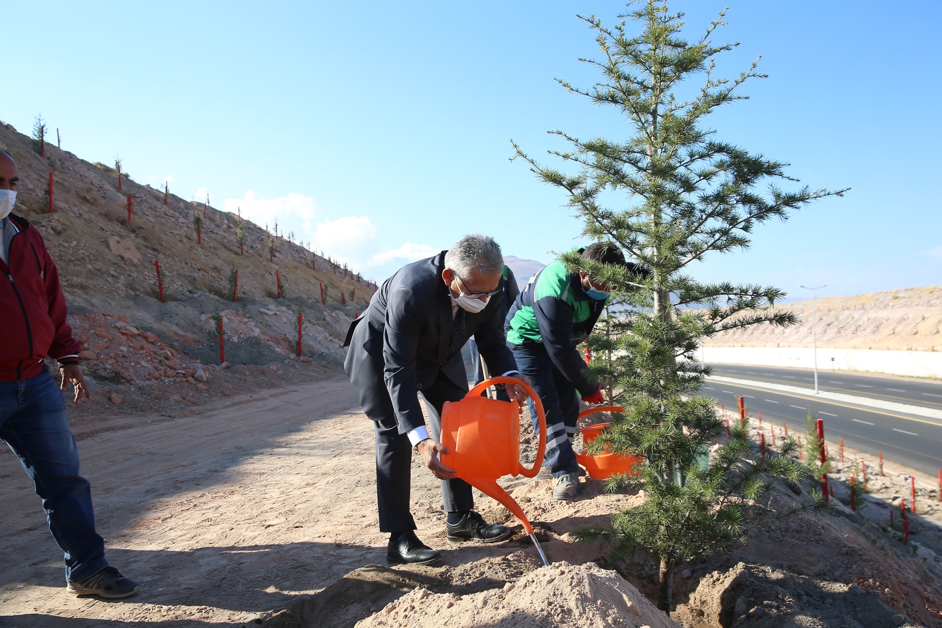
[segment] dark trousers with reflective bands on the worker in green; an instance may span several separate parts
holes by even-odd
[[[577,473],[579,465],[573,451],[573,435],[579,418],[576,387],[556,367],[542,344],[511,345],[511,348],[517,368],[530,378],[530,385],[543,402],[546,413],[544,464],[553,477]],[[533,429],[539,433],[536,412],[532,407],[530,416],[533,417]]]

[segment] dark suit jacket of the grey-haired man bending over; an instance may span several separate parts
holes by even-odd
[[[436,369],[467,389],[462,354],[447,362],[454,318],[448,286],[442,281],[443,250],[435,257],[402,266],[382,283],[369,307],[350,324],[344,368],[366,416],[379,421],[395,414],[399,433],[425,425],[418,382]],[[501,299],[491,298],[477,314],[465,316],[492,373],[516,370],[505,345]],[[446,363],[447,362],[447,363]]]

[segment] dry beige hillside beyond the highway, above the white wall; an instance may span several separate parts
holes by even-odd
[[[707,346],[812,346],[811,301],[786,303],[802,319],[788,329],[755,327],[723,333]],[[818,346],[942,351],[942,286],[907,288],[815,301]]]

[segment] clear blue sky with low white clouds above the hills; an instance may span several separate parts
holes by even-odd
[[[747,252],[694,268],[705,280],[825,295],[942,283],[942,4],[687,0],[690,39],[727,2],[726,75],[762,55],[770,78],[711,120],[718,137],[788,161],[813,187],[851,187]],[[278,217],[315,248],[382,278],[490,233],[507,254],[553,259],[580,225],[558,191],[510,163],[545,132],[626,137],[617,112],[568,94],[589,85],[595,43],[624,5],[515,3],[7,3],[0,120],[37,112],[62,148],[187,199]]]

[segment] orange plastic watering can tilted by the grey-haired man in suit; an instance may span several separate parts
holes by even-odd
[[[442,408],[442,444],[450,454],[442,454],[442,464],[455,470],[455,475],[507,507],[536,545],[544,565],[549,563],[540,542],[533,534],[523,509],[497,485],[504,475],[533,477],[540,472],[546,449],[545,436],[538,438],[536,460],[531,468],[520,463],[520,404],[516,401],[489,399],[480,394],[494,384],[517,384],[533,399],[540,434],[546,433],[546,415],[540,397],[527,384],[514,378],[490,378],[480,382],[461,401],[445,402]]]

